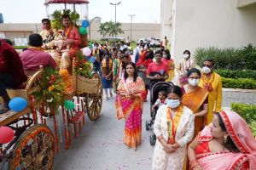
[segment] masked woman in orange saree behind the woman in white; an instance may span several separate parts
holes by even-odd
[[[198,69],[191,69],[187,73],[189,84],[183,86],[183,105],[189,107],[195,115],[195,135],[204,127],[204,116],[208,111],[208,92],[198,86],[201,72]],[[194,137],[195,137],[194,135]]]

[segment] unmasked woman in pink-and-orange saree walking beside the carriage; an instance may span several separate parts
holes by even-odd
[[[134,63],[128,63],[124,78],[120,80],[116,96],[116,111],[118,119],[125,119],[124,143],[128,148],[136,150],[142,143],[143,95],[145,85],[138,77]]]

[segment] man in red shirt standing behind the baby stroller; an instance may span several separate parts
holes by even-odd
[[[156,82],[165,82],[168,79],[168,67],[161,61],[160,50],[154,53],[154,59],[152,63],[148,65],[147,78],[150,80],[151,89]]]

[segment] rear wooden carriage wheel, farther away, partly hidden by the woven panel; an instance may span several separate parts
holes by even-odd
[[[98,73],[94,73],[92,78],[98,79],[98,93],[97,94],[85,94],[85,106],[90,121],[96,121],[99,118],[102,111],[102,79]]]

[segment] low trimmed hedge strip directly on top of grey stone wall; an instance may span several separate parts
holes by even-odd
[[[223,88],[256,89],[256,80],[249,78],[224,78],[221,77]]]

